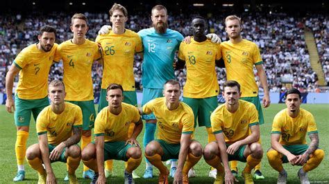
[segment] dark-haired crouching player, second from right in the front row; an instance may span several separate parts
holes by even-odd
[[[242,172],[244,183],[253,183],[251,170],[262,160],[263,151],[258,143],[258,111],[251,102],[239,100],[240,95],[239,83],[228,80],[223,84],[223,97],[226,102],[217,107],[211,115],[212,131],[217,142],[208,143],[203,155],[205,162],[218,171],[214,183],[223,183],[224,176],[226,182],[234,182],[234,177],[228,169],[228,160],[246,163]]]

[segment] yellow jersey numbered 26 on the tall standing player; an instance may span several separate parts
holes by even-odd
[[[107,35],[98,35],[96,42],[103,48],[101,88],[106,89],[109,84],[117,83],[124,91],[135,91],[134,55],[143,52],[140,36],[128,29],[122,35],[111,31]]]

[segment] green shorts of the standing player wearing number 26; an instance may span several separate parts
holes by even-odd
[[[124,91],[124,101],[127,104],[132,104],[137,107],[137,94],[136,91]],[[101,111],[104,107],[108,106],[108,101],[106,100],[106,89],[101,89],[101,96],[99,98],[99,109]]]

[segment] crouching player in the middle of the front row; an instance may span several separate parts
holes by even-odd
[[[174,183],[189,183],[187,173],[202,156],[202,145],[191,140],[194,131],[192,109],[179,102],[180,84],[169,80],[164,85],[163,98],[155,98],[143,106],[143,113],[154,113],[158,120],[158,139],[149,142],[145,156],[160,171],[159,183],[168,183],[168,169],[162,161],[178,158]],[[186,162],[185,162],[186,160]]]

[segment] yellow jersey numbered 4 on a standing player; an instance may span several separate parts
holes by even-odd
[[[69,39],[58,46],[58,53],[64,67],[65,100],[93,100],[92,63],[101,57],[97,44],[86,39],[84,44],[77,45]]]

